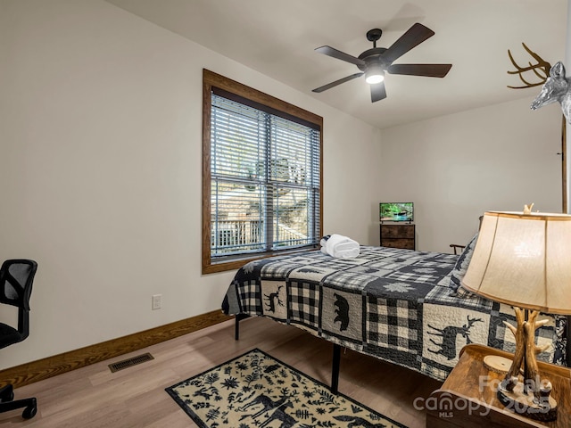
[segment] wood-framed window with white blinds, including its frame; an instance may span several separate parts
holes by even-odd
[[[203,273],[315,249],[323,119],[203,70]]]

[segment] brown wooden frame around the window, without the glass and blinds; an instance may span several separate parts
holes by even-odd
[[[277,254],[316,250],[318,245],[285,251],[264,251],[244,258],[212,262],[211,259],[211,93],[218,88],[228,94],[238,95],[252,103],[258,103],[276,111],[285,118],[295,118],[319,127],[319,236],[323,235],[323,118],[271,95],[225,78],[211,70],[203,69],[203,274],[241,268],[245,263]]]

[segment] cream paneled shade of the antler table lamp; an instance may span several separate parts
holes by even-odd
[[[486,212],[461,284],[519,308],[571,314],[571,216]]]

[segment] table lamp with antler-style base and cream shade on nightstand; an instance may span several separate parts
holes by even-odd
[[[534,332],[547,322],[537,319],[540,311],[571,314],[571,215],[531,212],[531,206],[524,212],[486,212],[461,284],[516,312],[517,326],[504,322],[516,337],[516,351],[498,399],[517,414],[555,420],[557,402],[535,356],[550,345],[538,347]]]

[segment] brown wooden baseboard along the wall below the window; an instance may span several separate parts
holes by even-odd
[[[0,386],[12,383],[14,388],[18,388],[29,383],[42,381],[57,374],[63,374],[105,359],[141,350],[147,346],[168,341],[183,334],[193,333],[205,327],[228,321],[228,319],[231,319],[231,317],[224,315],[221,310],[214,310],[203,315],[145,330],[144,332],[96,343],[79,350],[70,350],[69,352],[38,359],[21,366],[6,368],[0,371]]]

